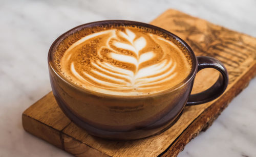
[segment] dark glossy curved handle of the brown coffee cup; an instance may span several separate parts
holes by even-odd
[[[186,106],[192,106],[192,105],[201,104],[201,103],[214,100],[225,91],[228,85],[227,69],[219,60],[212,57],[199,56],[197,57],[197,61],[198,61],[198,71],[204,68],[214,68],[220,71],[220,76],[219,76],[219,79],[216,81],[216,83],[212,85],[210,88],[208,88],[207,90],[197,94],[191,94],[188,97]]]

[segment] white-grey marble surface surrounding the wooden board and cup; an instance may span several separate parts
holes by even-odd
[[[97,20],[150,22],[167,8],[256,37],[256,1],[0,0],[0,156],[71,156],[28,133],[22,112],[51,91],[47,53],[60,34]],[[256,156],[256,79],[182,156]]]

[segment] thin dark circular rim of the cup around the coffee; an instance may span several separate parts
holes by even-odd
[[[61,74],[61,72],[57,69],[56,65],[53,63],[53,56],[52,55],[54,53],[54,49],[56,48],[56,46],[58,46],[59,43],[61,43],[62,40],[66,39],[67,37],[69,37],[70,35],[72,35],[74,32],[78,32],[82,29],[86,29],[86,28],[91,28],[91,27],[95,27],[97,25],[104,25],[104,24],[120,24],[120,25],[137,25],[137,26],[141,26],[141,27],[146,27],[146,28],[150,28],[150,29],[154,29],[157,31],[160,31],[164,34],[167,34],[171,37],[174,37],[177,41],[179,41],[190,53],[191,58],[192,58],[192,67],[191,67],[191,71],[188,74],[188,76],[179,84],[173,86],[172,88],[166,89],[164,91],[161,92],[156,92],[156,93],[152,93],[152,94],[141,94],[141,95],[114,95],[114,94],[106,94],[106,93],[100,93],[97,91],[93,91],[93,90],[89,90],[83,87],[80,87],[76,84],[74,84],[73,82],[71,82],[70,80],[68,80],[65,76],[63,76]],[[81,24],[78,25],[77,27],[61,34],[57,39],[55,39],[55,41],[52,43],[49,52],[48,52],[48,67],[52,69],[52,71],[66,84],[68,84],[69,86],[84,92],[84,93],[88,93],[88,94],[92,94],[92,95],[97,95],[99,97],[110,97],[110,98],[133,98],[133,99],[137,99],[137,98],[145,98],[145,97],[152,97],[152,96],[160,96],[172,91],[175,91],[183,86],[185,86],[186,84],[188,84],[191,80],[194,79],[196,73],[197,73],[197,68],[198,68],[198,64],[197,64],[197,58],[196,55],[194,53],[194,51],[190,48],[190,46],[184,41],[182,40],[180,37],[178,37],[177,35],[164,30],[162,28],[159,28],[155,25],[152,24],[148,24],[148,23],[143,23],[143,22],[138,22],[138,21],[130,21],[130,20],[102,20],[102,21],[95,21],[95,22],[90,22],[90,23],[85,23],[85,24]]]

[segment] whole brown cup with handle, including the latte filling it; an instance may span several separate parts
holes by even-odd
[[[89,134],[131,140],[172,126],[185,106],[219,97],[228,73],[217,59],[196,57],[178,36],[151,24],[107,20],[62,34],[48,54],[54,97]],[[196,73],[220,72],[209,89],[190,94]]]

